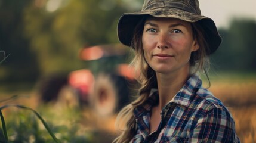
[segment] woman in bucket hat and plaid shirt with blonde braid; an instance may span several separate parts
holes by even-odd
[[[145,0],[122,15],[118,37],[135,49],[141,88],[118,115],[115,142],[239,142],[229,110],[199,79],[221,37],[198,0]]]

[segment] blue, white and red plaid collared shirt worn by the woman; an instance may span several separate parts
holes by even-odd
[[[192,76],[162,108],[161,122],[150,133],[150,114],[158,104],[158,91],[152,90],[146,103],[134,109],[137,133],[131,142],[240,142],[235,122],[223,103]]]

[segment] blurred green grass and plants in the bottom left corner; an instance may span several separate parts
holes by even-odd
[[[16,99],[18,96],[13,96],[0,104]],[[75,110],[57,111],[47,105],[37,110],[24,105],[2,105],[0,142],[92,142],[93,132],[80,133],[80,116]]]

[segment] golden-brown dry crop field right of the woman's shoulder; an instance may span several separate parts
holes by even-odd
[[[209,90],[229,108],[240,141],[256,142],[256,77],[221,76]]]

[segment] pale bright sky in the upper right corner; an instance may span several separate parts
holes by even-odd
[[[199,0],[202,15],[212,18],[217,27],[228,28],[233,18],[256,21],[256,0]]]

